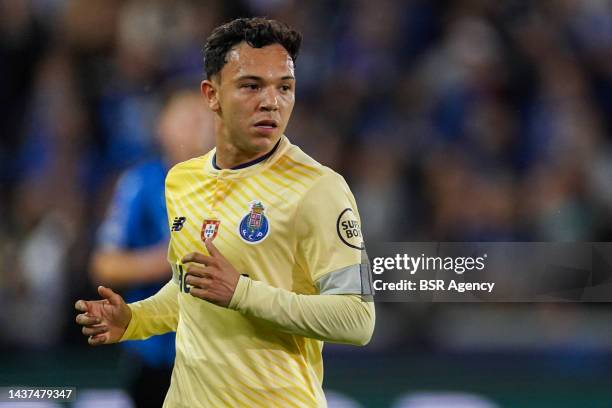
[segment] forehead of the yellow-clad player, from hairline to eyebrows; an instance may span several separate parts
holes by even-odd
[[[280,44],[253,48],[242,42],[227,53],[227,63],[222,71],[230,77],[284,77],[294,76],[294,65],[293,59]]]

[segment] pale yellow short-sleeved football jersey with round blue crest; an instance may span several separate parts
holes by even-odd
[[[178,323],[164,406],[325,406],[323,342],[189,295],[180,259],[207,253],[203,240],[214,237],[253,280],[299,294],[360,294],[363,240],[353,195],[286,137],[264,161],[238,170],[215,168],[214,154],[178,164],[166,179]]]

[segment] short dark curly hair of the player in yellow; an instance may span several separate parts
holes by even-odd
[[[204,45],[204,72],[211,79],[227,63],[227,53],[245,41],[253,48],[282,45],[295,63],[302,34],[285,23],[263,17],[237,18],[213,30]]]

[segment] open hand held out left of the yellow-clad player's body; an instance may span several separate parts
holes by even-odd
[[[79,312],[76,322],[83,326],[82,332],[89,336],[92,346],[116,343],[121,339],[132,319],[132,311],[123,298],[104,286],[98,286],[103,300],[78,300],[74,307]]]

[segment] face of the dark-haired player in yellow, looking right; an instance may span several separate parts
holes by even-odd
[[[293,60],[282,45],[242,42],[227,54],[209,98],[221,119],[218,137],[247,155],[269,151],[285,132],[295,103]]]

